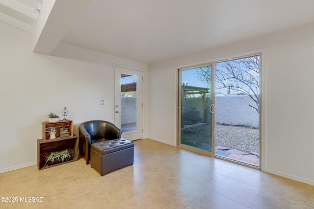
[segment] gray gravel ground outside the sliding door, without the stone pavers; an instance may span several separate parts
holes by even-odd
[[[197,141],[195,146],[207,142],[209,137],[208,124],[193,126],[185,129],[186,139]],[[221,125],[215,126],[215,146],[223,146],[229,149],[237,149],[245,153],[251,151],[260,152],[259,129]]]

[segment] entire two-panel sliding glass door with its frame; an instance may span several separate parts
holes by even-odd
[[[260,167],[260,57],[179,69],[179,147]]]

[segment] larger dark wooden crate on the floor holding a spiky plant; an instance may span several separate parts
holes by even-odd
[[[45,163],[46,157],[51,152],[58,152],[68,149],[72,155],[72,160],[57,163],[54,165],[47,165]],[[48,167],[53,167],[56,165],[61,165],[64,163],[70,163],[78,160],[78,137],[73,135],[73,137],[59,138],[59,139],[37,139],[37,167],[38,170],[45,169]]]

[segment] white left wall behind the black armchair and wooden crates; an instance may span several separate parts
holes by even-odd
[[[83,121],[113,121],[113,63],[147,73],[147,64],[68,45],[58,46],[67,58],[32,53],[31,34],[2,22],[0,31],[0,173],[36,164],[50,111],[61,116],[66,107],[76,135]]]

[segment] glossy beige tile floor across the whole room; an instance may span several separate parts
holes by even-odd
[[[0,174],[1,209],[313,209],[314,186],[195,154],[134,141],[134,164],[101,177],[83,159]],[[21,198],[43,197],[42,202]],[[40,200],[40,199],[39,199]]]

